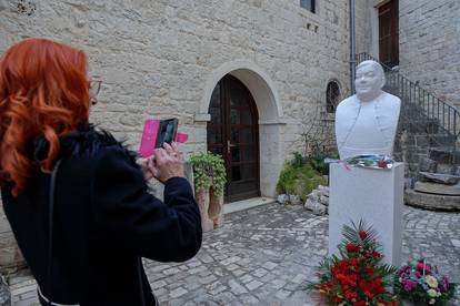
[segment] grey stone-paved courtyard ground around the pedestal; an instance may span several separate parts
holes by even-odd
[[[193,259],[144,261],[161,305],[314,305],[304,288],[327,253],[327,216],[269,204],[226,217]],[[404,222],[403,261],[424,256],[460,282],[460,214],[406,207]],[[12,280],[14,305],[33,305],[33,279]]]

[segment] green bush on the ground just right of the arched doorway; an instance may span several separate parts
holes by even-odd
[[[299,153],[284,163],[277,184],[278,194],[296,194],[304,201],[318,185],[326,184],[324,178],[310,164],[309,160]]]

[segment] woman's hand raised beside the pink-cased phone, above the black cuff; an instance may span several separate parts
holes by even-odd
[[[152,175],[166,183],[171,177],[184,177],[182,154],[179,152],[177,144],[164,143],[163,147],[154,151],[154,160],[149,164],[149,171]]]

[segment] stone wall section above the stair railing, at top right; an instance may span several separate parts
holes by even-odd
[[[460,2],[400,0],[400,69],[460,108]]]

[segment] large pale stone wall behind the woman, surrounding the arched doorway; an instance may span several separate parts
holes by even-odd
[[[348,3],[318,6],[313,14],[298,0],[0,0],[0,53],[31,37],[84,50],[90,75],[103,81],[91,120],[136,150],[146,118],[177,116],[180,131],[190,134],[187,154],[207,149],[207,86],[219,81],[213,75],[247,63],[226,73],[249,83],[258,75],[278,103],[274,113],[263,110],[271,103],[257,92],[263,85],[250,88],[261,96],[259,113],[267,113],[261,187],[273,195],[286,156],[304,147],[300,134],[326,108],[328,81],[338,80],[343,96],[349,91]]]

